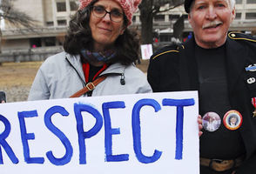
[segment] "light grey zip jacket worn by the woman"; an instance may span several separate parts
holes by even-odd
[[[100,75],[107,75],[107,77],[96,86],[92,96],[152,92],[145,74],[134,64],[128,66],[111,64]],[[125,84],[121,84],[121,79],[125,80]],[[47,58],[37,71],[28,100],[67,98],[84,86],[80,56],[61,52]]]

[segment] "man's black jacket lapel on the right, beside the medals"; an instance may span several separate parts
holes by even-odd
[[[232,93],[232,90],[236,85],[238,85],[239,76],[243,73],[243,70],[246,68],[246,47],[243,47],[239,42],[232,40],[227,37],[226,39],[226,67],[227,67],[227,82],[229,86],[229,92]]]

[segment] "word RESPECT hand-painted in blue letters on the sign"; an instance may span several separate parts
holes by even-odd
[[[172,106],[176,107],[176,151],[175,151],[175,159],[182,159],[182,151],[183,151],[183,120],[184,120],[184,107],[194,105],[194,99],[171,99],[164,98],[162,100],[162,106]],[[131,111],[131,129],[132,129],[132,138],[133,138],[133,151],[140,163],[150,164],[158,161],[158,159],[162,155],[162,151],[154,150],[152,157],[147,157],[142,152],[142,144],[141,144],[141,126],[140,126],[140,110],[145,107],[152,107],[155,112],[161,110],[161,105],[154,99],[145,98],[140,99],[136,104],[133,105]],[[76,117],[77,124],[77,137],[78,137],[78,145],[79,145],[79,164],[86,164],[86,145],[85,139],[89,139],[98,134],[98,132],[102,129],[104,124],[104,153],[105,153],[105,161],[106,162],[120,162],[120,161],[128,161],[129,154],[112,154],[112,137],[113,135],[120,134],[118,128],[111,127],[111,116],[110,109],[124,109],[125,102],[123,101],[113,101],[106,102],[102,104],[102,112],[101,114],[97,109],[95,109],[90,104],[73,104],[73,111]],[[83,123],[83,112],[88,112],[92,117],[95,118],[96,122],[91,127],[89,131],[84,131],[84,123]],[[63,117],[68,117],[70,113],[60,105],[54,105],[48,110],[45,111],[44,114],[44,124],[49,131],[51,131],[64,145],[64,156],[63,157],[55,157],[52,151],[46,152],[46,157],[49,159],[51,164],[55,165],[64,165],[68,164],[71,161],[71,157],[73,155],[73,147],[71,146],[71,142],[68,137],[64,135],[64,132],[57,128],[51,122],[51,117],[55,114],[60,114]],[[20,136],[23,144],[24,151],[24,161],[27,164],[44,164],[44,157],[30,157],[30,146],[28,144],[28,140],[35,139],[34,133],[28,133],[25,118],[29,119],[30,117],[38,117],[37,110],[26,110],[26,111],[18,111],[17,118],[20,129]],[[6,140],[10,135],[11,124],[7,117],[4,117],[0,114],[0,122],[3,123],[4,129],[0,134],[0,164],[3,164],[3,154],[2,150],[4,150],[7,156],[10,158],[13,164],[18,164],[19,159],[15,154],[15,151],[11,148],[11,145]]]

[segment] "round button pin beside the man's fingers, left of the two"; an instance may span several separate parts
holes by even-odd
[[[202,121],[203,127],[206,131],[217,131],[221,124],[219,115],[213,111],[205,113]]]

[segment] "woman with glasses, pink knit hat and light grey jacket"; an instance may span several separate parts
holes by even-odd
[[[138,39],[127,27],[141,0],[80,0],[71,18],[64,52],[49,57],[37,72],[29,100],[71,97],[98,77],[83,96],[152,92],[133,64]]]

